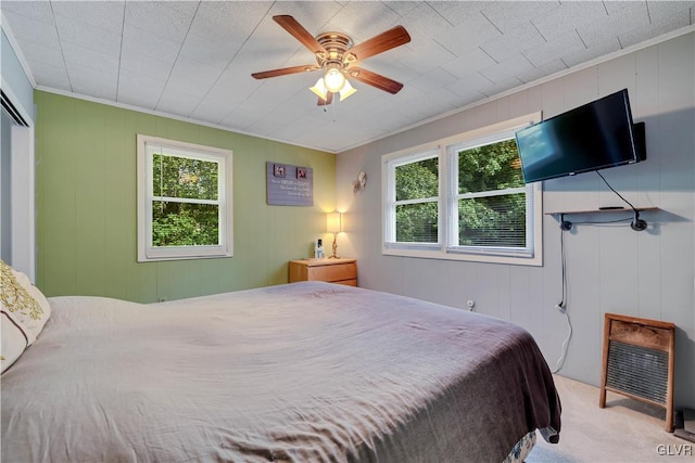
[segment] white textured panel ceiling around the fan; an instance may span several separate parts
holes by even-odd
[[[691,29],[695,1],[8,1],[3,27],[37,88],[341,152],[583,63]],[[314,64],[273,21],[359,43],[395,25],[412,41],[362,66],[404,83],[324,108]],[[9,26],[9,27],[8,27]],[[325,111],[326,110],[326,111]]]

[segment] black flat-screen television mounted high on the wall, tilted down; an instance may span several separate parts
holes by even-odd
[[[646,159],[628,89],[516,132],[526,183]]]

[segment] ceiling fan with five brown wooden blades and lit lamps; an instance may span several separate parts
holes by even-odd
[[[403,83],[367,70],[361,67],[361,63],[375,54],[409,42],[410,36],[405,27],[395,26],[362,43],[353,44],[352,39],[341,33],[323,33],[314,37],[289,15],[273,16],[273,20],[314,53],[317,64],[264,70],[252,74],[252,77],[267,79],[320,69],[324,76],[309,89],[318,95],[318,105],[330,104],[334,93],[338,93],[342,101],[356,92],[348,77],[393,94],[403,88]]]

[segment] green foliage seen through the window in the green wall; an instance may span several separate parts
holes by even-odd
[[[155,154],[152,168],[152,245],[219,244],[218,163]]]

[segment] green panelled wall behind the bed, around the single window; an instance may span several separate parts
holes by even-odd
[[[141,303],[287,283],[288,260],[328,240],[336,156],[36,91],[37,285],[48,296]],[[136,134],[233,152],[233,257],[137,262]],[[314,169],[314,206],[268,206],[265,163]]]

